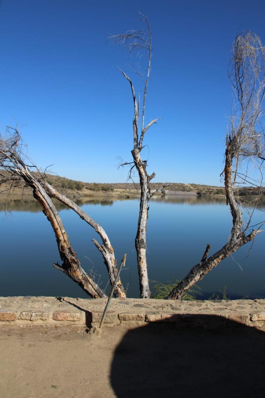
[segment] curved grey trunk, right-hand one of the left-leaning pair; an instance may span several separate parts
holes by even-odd
[[[94,230],[99,234],[102,239],[103,244],[100,245],[97,240],[93,240],[97,249],[102,253],[104,258],[104,263],[107,267],[107,271],[109,273],[110,283],[113,285],[115,282],[118,267],[117,261],[115,259],[115,254],[109,237],[107,236],[105,230],[99,225],[95,220],[93,220],[87,213],[85,213],[76,203],[71,201],[66,196],[59,193],[55,188],[53,188],[50,184],[48,184],[44,179],[39,179],[39,183],[45,189],[50,197],[57,199],[58,201],[64,203],[70,209],[74,210],[82,220],[85,220],[90,226],[94,228]],[[117,285],[114,290],[115,297],[126,297],[125,289],[123,284],[121,283],[121,279],[119,278],[117,281]]]

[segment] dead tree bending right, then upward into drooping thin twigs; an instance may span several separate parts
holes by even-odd
[[[207,245],[201,261],[170,292],[166,297],[168,299],[181,298],[185,291],[202,279],[220,261],[253,240],[261,232],[260,228],[264,222],[255,226],[250,225],[253,212],[247,220],[243,219],[235,187],[238,183],[246,182],[254,183],[259,188],[262,186],[265,137],[260,121],[265,92],[264,56],[264,47],[257,35],[247,31],[236,37],[229,67],[234,98],[229,132],[226,137],[225,166],[222,173],[226,203],[232,215],[231,236],[228,242],[210,257],[208,257],[210,245]],[[254,164],[258,170],[261,176],[259,181],[257,178],[255,181],[250,178],[250,164]]]

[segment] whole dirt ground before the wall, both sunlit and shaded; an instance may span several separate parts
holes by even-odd
[[[265,333],[246,326],[2,326],[0,353],[1,398],[265,396]]]

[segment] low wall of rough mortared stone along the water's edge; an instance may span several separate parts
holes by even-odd
[[[0,326],[97,326],[106,302],[106,298],[0,297]],[[180,327],[206,328],[244,324],[265,330],[265,299],[181,301],[113,298],[104,324],[136,327],[145,322],[175,322]]]

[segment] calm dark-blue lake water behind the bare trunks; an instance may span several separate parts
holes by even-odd
[[[105,228],[118,262],[127,253],[126,269],[121,277],[123,284],[128,284],[128,297],[138,297],[134,250],[138,199],[90,200],[78,204]],[[5,208],[7,212],[3,211]],[[253,224],[264,217],[264,208],[262,205],[255,212]],[[104,289],[107,271],[101,254],[92,243],[93,238],[99,239],[97,234],[73,211],[60,203],[57,209],[82,267],[88,273],[92,270],[95,280]],[[0,222],[0,296],[87,297],[70,278],[53,268],[54,262],[60,262],[57,244],[37,202],[12,201],[6,207],[2,203]],[[149,278],[161,282],[173,277],[182,279],[199,262],[208,243],[210,253],[221,248],[230,229],[230,211],[222,198],[154,198],[150,201],[148,219]],[[199,298],[223,291],[224,286],[231,298],[265,297],[264,238],[264,232],[257,236],[248,257],[251,244],[235,253],[234,259],[230,257],[222,261],[204,277],[198,284],[203,293]]]

